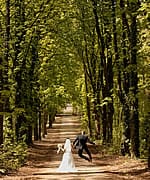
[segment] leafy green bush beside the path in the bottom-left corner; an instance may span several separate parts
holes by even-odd
[[[0,168],[9,170],[17,170],[21,167],[27,157],[27,145],[24,141],[17,142],[14,139],[14,132],[10,128],[8,119],[4,124],[4,144],[0,149]]]

